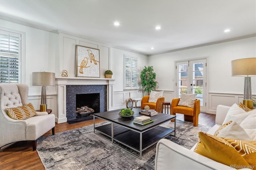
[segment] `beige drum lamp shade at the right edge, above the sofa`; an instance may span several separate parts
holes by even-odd
[[[256,75],[256,58],[243,58],[231,61],[232,76]]]

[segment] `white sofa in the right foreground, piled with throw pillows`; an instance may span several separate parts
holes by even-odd
[[[214,127],[207,133],[214,132],[222,125],[230,107],[218,105]],[[194,146],[195,147],[195,146]],[[161,139],[156,145],[155,170],[208,170],[208,169],[233,169],[230,166],[216,162],[210,158],[180,146],[170,140]]]

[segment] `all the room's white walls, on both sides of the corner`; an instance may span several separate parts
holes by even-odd
[[[110,44],[88,40],[81,36],[70,35],[64,32],[53,33],[0,20],[1,27],[25,33],[25,82],[29,86],[29,99],[36,109],[39,109],[41,87],[32,86],[32,72],[55,72],[61,76],[62,70],[67,70],[69,77],[75,77],[75,45],[84,45],[100,49],[100,77],[104,71],[111,69],[113,74],[113,108],[125,107],[129,97],[142,97],[140,90],[123,90],[123,62],[124,55],[138,57],[138,80],[144,66],[152,65],[156,72],[156,81],[159,88],[164,90],[166,101],[175,96],[175,61],[208,57],[208,103],[207,113],[214,113],[218,104],[231,105],[242,100],[244,89],[243,77],[231,76],[231,61],[234,59],[256,57],[256,38],[245,38],[231,42],[218,43],[203,47],[175,51],[147,57],[139,53],[112,47]],[[173,81],[174,80],[174,81]],[[256,95],[256,77],[252,77],[252,94]],[[57,111],[56,87],[47,87],[48,108]],[[138,103],[140,105],[140,103]]]

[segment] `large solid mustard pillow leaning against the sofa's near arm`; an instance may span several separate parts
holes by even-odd
[[[199,141],[194,152],[227,166],[250,166],[229,142],[204,132],[199,132]]]

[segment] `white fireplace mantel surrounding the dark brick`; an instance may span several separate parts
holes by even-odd
[[[66,117],[66,86],[67,85],[107,85],[107,110],[113,110],[112,96],[114,79],[96,78],[96,77],[56,77],[55,84],[57,89],[58,115],[55,121],[57,123],[67,122]]]

